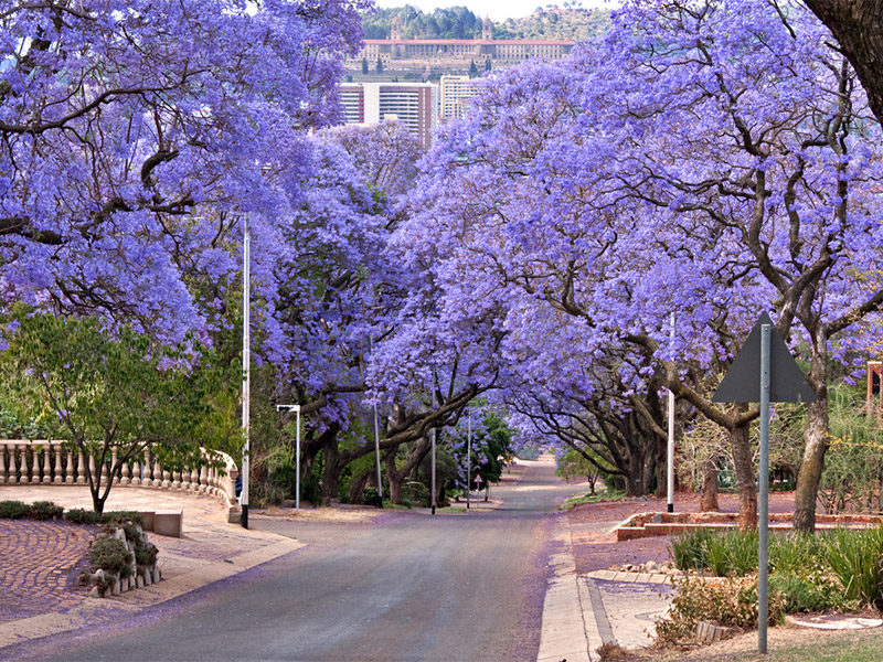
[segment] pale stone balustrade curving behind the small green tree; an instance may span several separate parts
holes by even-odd
[[[210,494],[224,501],[227,508],[236,503],[238,467],[233,458],[220,451],[203,450],[223,459],[224,469],[196,467],[189,471],[168,471],[152,458],[149,450],[123,465],[114,476],[114,488],[148,488]],[[116,453],[111,466],[116,465]],[[86,465],[88,462],[88,465]],[[96,471],[96,459],[62,441],[0,439],[0,490],[4,484],[73,485],[86,484],[86,466]],[[108,465],[100,469],[106,484]]]

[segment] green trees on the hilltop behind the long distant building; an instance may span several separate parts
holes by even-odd
[[[364,14],[365,39],[389,39],[393,17],[402,21],[404,39],[476,39],[481,36],[483,17],[466,7],[436,9],[425,13],[406,4]],[[493,24],[494,39],[591,40],[604,33],[610,22],[607,10],[549,6],[531,15]]]

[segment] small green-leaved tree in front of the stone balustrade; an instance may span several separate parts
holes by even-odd
[[[170,469],[202,461],[203,388],[181,367],[181,348],[125,327],[111,337],[96,319],[17,312],[3,331],[4,363],[18,372],[9,386],[26,413],[95,458],[96,471],[83,469],[96,512],[113,477],[146,449]]]

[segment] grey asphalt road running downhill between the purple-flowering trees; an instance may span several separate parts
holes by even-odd
[[[549,532],[575,488],[536,463],[493,490],[503,505],[483,513],[394,511],[370,524],[254,516],[254,527],[308,546],[32,652],[91,662],[533,661]]]

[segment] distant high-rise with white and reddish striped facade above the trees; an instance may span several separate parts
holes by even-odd
[[[438,86],[430,83],[342,83],[340,102],[347,124],[397,119],[423,147],[438,126]]]

